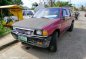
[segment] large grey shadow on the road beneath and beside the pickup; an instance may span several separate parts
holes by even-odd
[[[64,33],[58,40],[58,51],[56,53],[37,47],[29,50],[22,48],[38,59],[85,59],[86,29],[75,28],[73,32]]]

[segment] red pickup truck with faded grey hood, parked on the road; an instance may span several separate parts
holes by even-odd
[[[74,17],[65,7],[44,8],[32,18],[13,24],[12,35],[22,44],[57,51],[57,40],[64,31],[72,31]]]

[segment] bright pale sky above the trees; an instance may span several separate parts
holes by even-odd
[[[44,1],[47,1],[47,0],[44,0]],[[58,1],[58,0],[56,0],[56,1]],[[59,0],[59,1],[70,1],[70,0]],[[34,2],[40,3],[40,0],[22,0],[22,2],[24,3],[24,6],[31,8],[32,3],[34,3]],[[80,7],[81,5],[86,6],[86,0],[71,0],[71,3],[73,5],[75,5],[76,7]]]

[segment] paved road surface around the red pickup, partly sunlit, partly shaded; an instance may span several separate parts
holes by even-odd
[[[0,59],[86,59],[86,18],[81,12],[73,32],[66,32],[58,41],[58,52],[41,48],[25,49],[17,43],[0,51]]]

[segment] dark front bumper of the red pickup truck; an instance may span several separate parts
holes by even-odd
[[[29,44],[29,45],[33,45],[33,46],[37,46],[37,47],[42,47],[42,48],[47,48],[49,47],[50,44],[50,39],[51,37],[41,37],[41,36],[26,36],[26,35],[20,35],[20,34],[16,34],[11,32],[12,36],[19,40],[20,42],[23,42],[25,44]],[[22,39],[19,39],[19,36],[24,36],[27,38],[27,41],[24,41]]]

